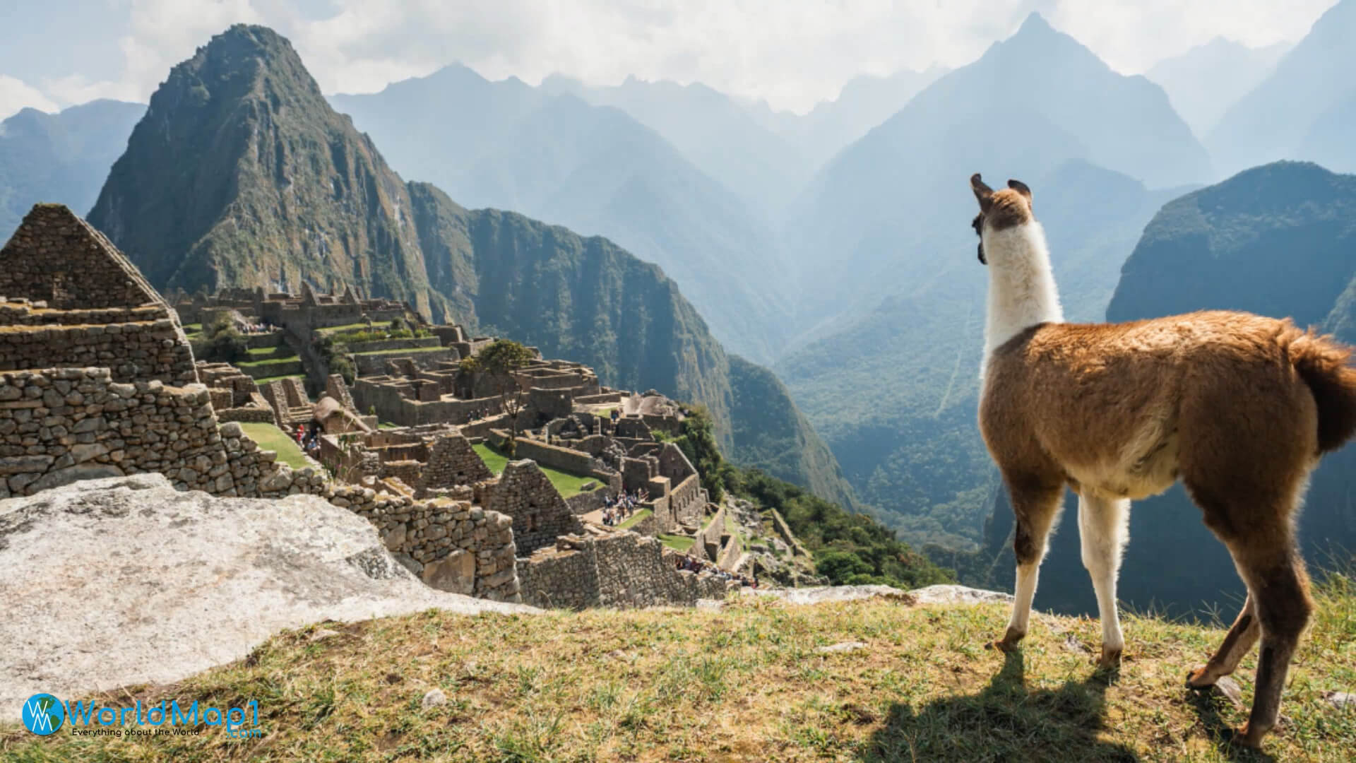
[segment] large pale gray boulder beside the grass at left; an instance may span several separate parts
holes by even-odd
[[[427,608],[537,612],[443,593],[367,520],[313,496],[174,490],[160,474],[0,501],[0,717],[37,692],[168,683],[282,629]]]

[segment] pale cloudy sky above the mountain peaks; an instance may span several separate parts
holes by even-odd
[[[1356,1],[1356,0],[1348,0]],[[537,84],[702,81],[808,111],[858,75],[961,67],[1032,11],[1142,73],[1215,37],[1295,42],[1334,0],[0,0],[0,118],[146,102],[236,22],[290,38],[320,88],[374,92],[462,62]]]

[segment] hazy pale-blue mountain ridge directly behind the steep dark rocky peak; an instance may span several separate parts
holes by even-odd
[[[785,345],[789,274],[765,216],[628,113],[464,67],[331,102],[392,147],[397,170],[468,205],[606,235],[658,263],[736,352],[766,361]]]

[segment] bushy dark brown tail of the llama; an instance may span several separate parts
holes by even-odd
[[[1290,343],[1290,361],[1318,403],[1318,452],[1341,448],[1356,434],[1356,368],[1353,348],[1310,329]]]

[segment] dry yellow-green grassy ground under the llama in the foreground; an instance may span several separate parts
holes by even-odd
[[[1356,591],[1336,578],[1296,654],[1283,760],[1349,760]],[[1182,687],[1219,623],[1125,622],[1119,675],[1097,673],[1096,622],[1037,615],[1020,654],[982,648],[1006,606],[868,600],[721,611],[458,616],[435,611],[282,633],[179,684],[102,695],[259,701],[262,739],[38,740],[0,726],[15,763],[193,760],[1265,760],[1220,732],[1245,710]],[[321,629],[331,631],[321,637]],[[862,649],[823,648],[861,642]],[[1252,701],[1256,660],[1237,673]],[[423,707],[441,690],[446,702]]]

